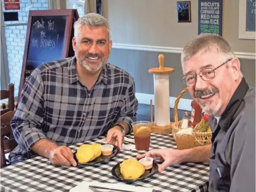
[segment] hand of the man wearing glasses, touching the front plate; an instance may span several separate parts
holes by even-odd
[[[179,158],[181,153],[181,150],[158,149],[151,150],[143,155],[138,155],[137,158],[141,159],[143,157],[153,157],[154,160],[163,160],[164,162],[158,167],[158,171],[161,173],[168,166],[181,163]]]

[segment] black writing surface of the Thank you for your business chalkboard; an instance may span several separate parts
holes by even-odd
[[[67,16],[32,17],[25,77],[40,65],[62,58]]]

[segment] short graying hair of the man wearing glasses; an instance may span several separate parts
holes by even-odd
[[[220,53],[220,56],[224,60],[235,57],[234,52],[231,50],[231,46],[224,38],[219,35],[202,34],[197,36],[194,40],[189,42],[181,53],[181,65],[184,72],[184,62],[189,58],[197,55],[197,53],[207,53],[208,51]],[[241,77],[243,74],[240,73]]]

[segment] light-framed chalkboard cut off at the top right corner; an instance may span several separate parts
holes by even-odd
[[[239,0],[239,38],[255,40],[255,0]]]

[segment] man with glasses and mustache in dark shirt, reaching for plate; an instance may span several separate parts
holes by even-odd
[[[255,191],[255,87],[220,36],[198,36],[183,48],[181,62],[189,93],[211,115],[212,145],[153,150],[138,158],[163,159],[159,171],[210,159],[208,191]]]

